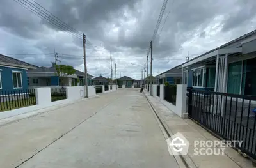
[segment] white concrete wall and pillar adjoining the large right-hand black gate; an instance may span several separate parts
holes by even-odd
[[[177,84],[176,105],[173,105],[172,103],[169,103],[166,100],[161,100],[161,102],[172,112],[180,116],[180,118],[187,118],[188,114],[186,114],[186,93],[187,93],[187,85]],[[164,89],[163,89],[163,94],[164,94]]]

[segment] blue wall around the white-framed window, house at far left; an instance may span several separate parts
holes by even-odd
[[[26,70],[20,69],[20,68],[9,68],[9,67],[4,67],[0,66],[0,73],[1,73],[1,81],[2,81],[2,89],[1,91],[19,91],[19,90],[24,90],[28,89],[28,78],[27,78],[27,73]],[[21,72],[22,76],[22,88],[19,89],[14,89],[13,88],[13,79],[12,79],[12,72],[13,71],[19,71]]]

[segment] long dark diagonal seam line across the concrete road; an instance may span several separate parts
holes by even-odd
[[[118,99],[118,98],[115,98],[115,100]],[[113,101],[114,102],[114,101]],[[99,111],[101,111],[102,109],[104,109],[105,107],[107,107],[109,104],[113,103],[113,102],[110,102],[108,103],[107,105],[105,105],[104,107],[102,107]],[[30,160],[31,158],[35,157],[35,155],[37,155],[38,153],[40,153],[41,151],[43,151],[45,148],[47,148],[48,146],[50,146],[51,144],[53,144],[54,142],[58,141],[59,139],[61,139],[61,137],[67,135],[69,132],[71,132],[72,130],[74,130],[77,126],[81,125],[82,123],[84,123],[84,121],[86,121],[87,119],[90,119],[92,118],[95,114],[97,114],[99,111],[93,113],[90,117],[84,119],[83,121],[81,121],[81,123],[79,123],[78,125],[74,126],[74,128],[68,130],[68,132],[65,132],[64,134],[62,134],[60,137],[58,137],[57,139],[55,139],[54,141],[52,141],[50,144],[47,144],[47,146],[45,146],[44,148],[40,149],[38,152],[36,152],[34,155],[32,155],[31,157],[29,157],[28,159],[24,160],[22,163],[20,163],[19,165],[17,165],[15,168],[18,168],[20,167],[20,165],[28,162],[28,160]]]

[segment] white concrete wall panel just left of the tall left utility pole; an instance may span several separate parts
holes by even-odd
[[[84,98],[85,89],[84,86],[72,86],[67,87],[66,89],[67,99],[79,99]]]

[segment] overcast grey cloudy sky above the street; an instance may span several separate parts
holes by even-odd
[[[33,14],[18,0],[0,1],[1,54],[51,66],[55,49],[61,63],[83,70],[81,40]],[[111,55],[118,77],[121,73],[141,78],[163,0],[34,1],[86,34],[93,46],[86,44],[88,73],[110,77]],[[253,31],[255,8],[255,0],[169,0],[153,43],[153,75],[184,63],[188,51],[191,59]]]

